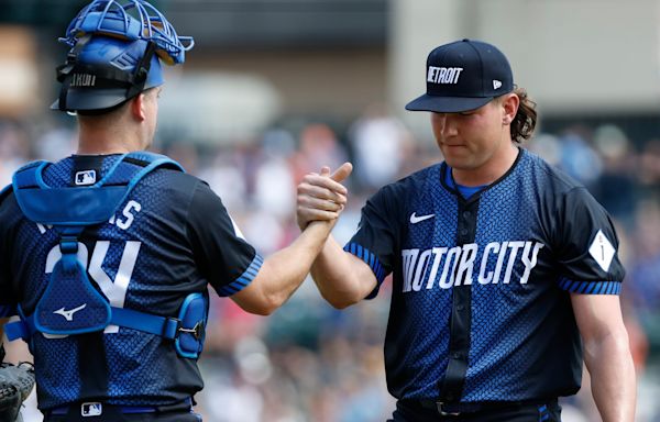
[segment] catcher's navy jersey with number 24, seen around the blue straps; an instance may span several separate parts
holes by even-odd
[[[92,169],[102,177],[120,155],[74,156],[51,165],[44,181],[75,184]],[[84,170],[82,173],[80,170]],[[241,236],[208,185],[180,171],[145,176],[107,223],[87,227],[78,259],[110,304],[177,316],[185,297],[240,291],[262,258]],[[55,262],[58,235],[26,220],[15,197],[0,204],[0,304],[34,312]],[[158,406],[202,388],[195,359],[179,357],[172,341],[127,327],[72,336],[36,333],[37,395],[42,410],[73,401],[105,399],[124,406]]]

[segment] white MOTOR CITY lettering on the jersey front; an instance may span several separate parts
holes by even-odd
[[[450,289],[461,285],[527,284],[537,256],[544,245],[540,242],[491,242],[476,257],[480,245],[470,243],[454,247],[403,249],[404,293],[421,289]],[[522,264],[522,275],[513,279],[514,266]],[[428,270],[430,268],[430,270]],[[428,274],[428,277],[427,277]]]

